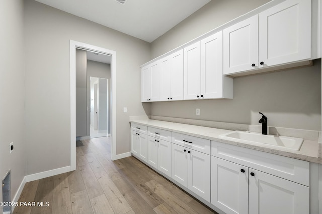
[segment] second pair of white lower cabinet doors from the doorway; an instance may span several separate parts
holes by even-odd
[[[171,143],[148,136],[147,163],[160,172],[171,176]]]

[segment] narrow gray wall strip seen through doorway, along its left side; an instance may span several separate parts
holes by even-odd
[[[86,111],[86,51],[76,49],[76,137],[88,136]]]

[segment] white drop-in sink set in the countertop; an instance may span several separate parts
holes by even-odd
[[[262,135],[256,132],[243,131],[233,131],[222,134],[219,135],[219,138],[253,145],[266,144],[266,146],[270,148],[284,148],[296,151],[300,150],[303,143],[302,138]]]

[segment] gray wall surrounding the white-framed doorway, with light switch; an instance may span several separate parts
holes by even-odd
[[[149,43],[33,0],[24,12],[27,174],[70,165],[70,40],[116,51],[116,154],[129,152],[129,116],[145,114],[139,66]]]

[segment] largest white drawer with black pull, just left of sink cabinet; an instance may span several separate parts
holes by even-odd
[[[172,132],[171,142],[210,155],[210,140]]]

